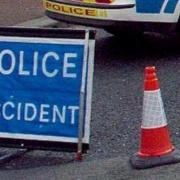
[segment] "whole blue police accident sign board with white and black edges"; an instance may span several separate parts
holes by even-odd
[[[88,149],[94,32],[0,29],[0,145]],[[83,113],[81,113],[83,112]]]

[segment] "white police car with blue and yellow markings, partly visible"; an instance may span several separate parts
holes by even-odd
[[[120,30],[180,32],[180,0],[44,0],[50,18]]]

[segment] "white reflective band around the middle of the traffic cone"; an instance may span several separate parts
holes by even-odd
[[[145,91],[141,128],[159,128],[167,125],[160,89]]]

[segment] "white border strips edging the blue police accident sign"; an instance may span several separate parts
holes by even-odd
[[[52,41],[53,40],[53,41]],[[0,42],[23,42],[23,43],[49,43],[49,44],[71,44],[84,45],[85,39],[65,39],[65,38],[34,38],[34,37],[11,37],[0,36]],[[86,111],[85,111],[85,126],[83,143],[89,143],[90,138],[90,120],[91,120],[91,102],[92,102],[92,85],[93,85],[93,69],[94,69],[94,49],[95,40],[89,40],[88,43],[88,72],[87,72],[87,92],[86,92]],[[3,133],[0,132],[1,138],[24,139],[24,140],[41,140],[54,142],[77,143],[78,137],[63,137],[63,136],[47,136],[47,135],[32,135],[21,133]]]

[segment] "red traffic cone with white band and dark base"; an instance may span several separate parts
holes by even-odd
[[[141,143],[130,162],[137,169],[180,162],[180,151],[170,140],[155,67],[145,68]]]

